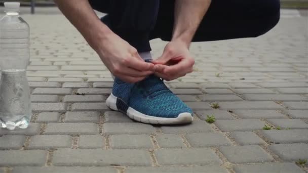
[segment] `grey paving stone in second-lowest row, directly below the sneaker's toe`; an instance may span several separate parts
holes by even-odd
[[[206,165],[222,163],[215,152],[209,148],[158,149],[154,153],[160,165]]]

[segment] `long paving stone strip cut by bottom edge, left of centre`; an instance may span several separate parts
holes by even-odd
[[[14,167],[12,173],[118,173],[118,170],[112,167],[66,167],[66,166],[44,166],[44,167]]]

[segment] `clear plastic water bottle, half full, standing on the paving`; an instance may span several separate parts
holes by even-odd
[[[19,16],[20,3],[5,3],[0,20],[0,127],[27,128],[31,112],[26,76],[29,63],[29,25]]]

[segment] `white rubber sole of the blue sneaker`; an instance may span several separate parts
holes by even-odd
[[[106,100],[106,105],[112,110],[119,111],[117,107],[117,99],[117,97],[111,94]],[[162,118],[145,115],[129,107],[126,114],[131,119],[148,124],[186,124],[194,120],[194,117],[188,112],[181,113],[176,118]]]

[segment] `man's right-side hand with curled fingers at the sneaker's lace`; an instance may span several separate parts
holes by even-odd
[[[157,76],[165,80],[174,80],[193,72],[195,60],[190,56],[184,42],[173,40],[166,45],[163,55],[152,63],[157,66]]]

